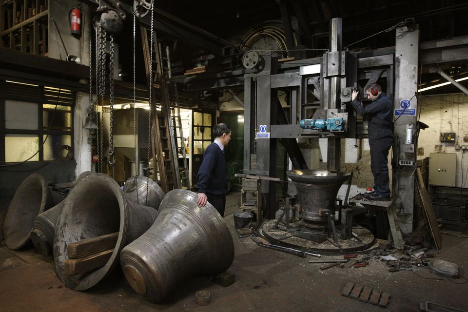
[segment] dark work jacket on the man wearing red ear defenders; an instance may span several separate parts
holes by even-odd
[[[367,106],[361,105],[357,100],[351,101],[352,107],[359,115],[369,117],[367,132],[369,133],[369,144],[379,139],[393,140],[393,105],[385,93]]]

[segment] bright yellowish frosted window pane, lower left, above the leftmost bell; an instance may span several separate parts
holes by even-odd
[[[5,135],[5,162],[24,161],[39,149],[37,135]],[[38,161],[39,153],[28,161]]]

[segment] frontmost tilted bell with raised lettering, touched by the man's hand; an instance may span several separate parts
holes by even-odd
[[[215,208],[196,204],[188,190],[169,192],[151,228],[120,253],[132,288],[159,302],[184,279],[226,271],[234,260],[233,238]]]

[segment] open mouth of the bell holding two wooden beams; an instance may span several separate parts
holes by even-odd
[[[54,239],[54,259],[57,273],[68,288],[85,290],[96,285],[117,264],[125,240],[127,202],[117,182],[104,174],[92,174],[77,183],[68,195],[57,221]],[[77,275],[65,273],[67,246],[84,239],[118,232],[114,251],[106,264]],[[122,234],[124,233],[124,234]]]

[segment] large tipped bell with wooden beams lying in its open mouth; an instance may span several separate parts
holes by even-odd
[[[115,268],[120,251],[150,228],[158,212],[128,201],[117,182],[104,174],[86,177],[71,190],[67,198],[56,224],[55,268],[67,287],[81,291],[96,285]],[[117,235],[116,242],[106,251],[108,260],[102,266],[75,274],[66,270],[71,261],[83,260],[69,257],[70,244],[110,234]],[[91,254],[84,259],[93,256]],[[80,263],[86,265],[85,262]]]

